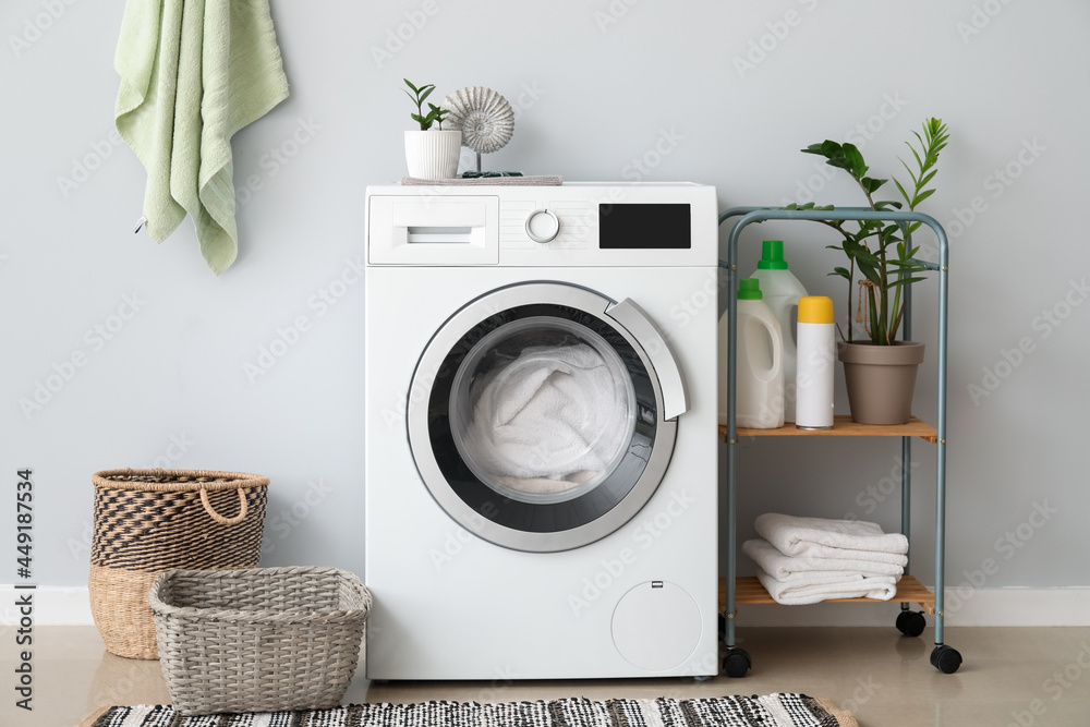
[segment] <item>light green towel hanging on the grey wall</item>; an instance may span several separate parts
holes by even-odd
[[[268,0],[129,0],[114,68],[148,234],[162,242],[189,214],[219,275],[238,256],[231,137],[288,97]]]

